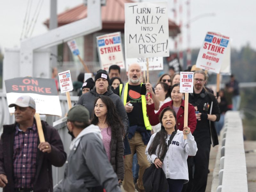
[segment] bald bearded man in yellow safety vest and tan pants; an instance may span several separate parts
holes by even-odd
[[[125,155],[124,158],[124,190],[134,192],[135,188],[140,192],[144,191],[142,183],[142,176],[146,168],[149,167],[145,150],[150,139],[151,125],[148,121],[146,97],[141,95],[140,77],[142,76],[141,68],[139,64],[132,64],[129,66],[128,83],[119,85],[117,87],[117,93],[119,93],[129,119],[128,129],[128,142],[131,149],[131,154]],[[147,84],[146,84],[147,86]],[[132,104],[132,106],[131,106]],[[132,178],[132,159],[134,153],[137,153],[139,169],[139,178],[133,183]],[[134,188],[135,187],[135,188]]]

